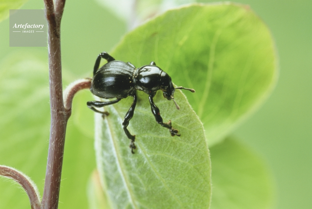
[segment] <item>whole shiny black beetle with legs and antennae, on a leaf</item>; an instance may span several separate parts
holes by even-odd
[[[99,69],[101,58],[106,59],[107,63]],[[102,116],[105,116],[108,115],[107,112],[101,112],[95,109],[95,107],[99,108],[106,105],[115,104],[123,98],[132,96],[133,103],[127,114],[124,116],[122,125],[124,126],[124,132],[131,140],[129,147],[131,148],[131,152],[134,153],[133,149],[136,148],[134,145],[135,135],[130,134],[127,126],[129,125],[130,119],[133,117],[134,108],[137,102],[136,90],[143,91],[149,95],[149,103],[151,104],[151,110],[156,119],[156,122],[161,126],[168,128],[172,136],[180,136],[180,134],[178,134],[178,130],[171,126],[171,121],[168,123],[163,122],[163,118],[160,116],[159,109],[153,101],[153,97],[155,96],[156,92],[158,90],[162,90],[163,97],[168,100],[172,99],[177,109],[180,109],[173,98],[175,89],[186,89],[191,92],[195,92],[194,89],[183,88],[182,86],[174,88],[171,77],[158,66],[156,66],[155,62],[151,62],[149,65],[144,65],[140,68],[136,68],[130,62],[125,63],[122,61],[117,61],[107,52],[102,52],[95,61],[90,91],[100,98],[116,99],[109,102],[89,101],[87,102],[87,106],[91,110],[101,113]]]

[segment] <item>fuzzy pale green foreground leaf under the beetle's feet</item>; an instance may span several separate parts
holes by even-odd
[[[136,135],[135,154],[122,128],[132,97],[96,113],[97,166],[112,208],[208,208],[210,159],[202,123],[180,90],[173,101],[158,91],[154,97],[163,120],[172,121],[180,137],[156,123],[148,95],[137,92],[138,102],[128,129]]]

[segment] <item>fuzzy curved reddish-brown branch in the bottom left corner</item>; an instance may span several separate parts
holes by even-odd
[[[0,175],[19,183],[27,192],[32,209],[40,209],[41,203],[37,186],[27,175],[4,165],[0,165]]]

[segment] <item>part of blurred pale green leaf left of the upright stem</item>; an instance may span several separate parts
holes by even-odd
[[[0,62],[0,164],[21,170],[42,195],[50,107],[45,58],[25,51]],[[26,193],[0,180],[0,208],[30,208]]]

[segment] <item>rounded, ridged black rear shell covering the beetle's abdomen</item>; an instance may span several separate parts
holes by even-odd
[[[122,61],[103,65],[93,76],[91,92],[105,99],[126,98],[135,93],[133,77],[135,68]]]

